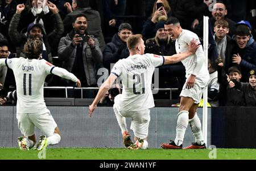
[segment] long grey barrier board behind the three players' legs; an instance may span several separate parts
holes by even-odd
[[[61,141],[53,147],[104,147],[124,148],[122,134],[112,107],[97,107],[93,117],[89,118],[88,107],[81,106],[48,106],[53,118],[60,128]],[[17,126],[15,106],[0,106],[0,147],[18,147],[20,131]],[[148,144],[150,148],[160,148],[175,138],[178,108],[153,108],[150,116]],[[203,109],[197,111],[201,121]],[[129,128],[131,119],[127,119]],[[210,109],[208,109],[210,123]],[[132,132],[130,130],[130,132]],[[42,132],[36,130],[36,135]],[[131,133],[133,136],[133,134]],[[183,146],[194,142],[190,127],[185,133]],[[210,142],[210,126],[208,126]]]

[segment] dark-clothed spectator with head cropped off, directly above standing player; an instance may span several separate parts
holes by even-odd
[[[203,20],[203,16],[210,16],[209,6],[212,1],[179,0],[176,4],[175,17],[179,19],[184,29],[193,30]]]

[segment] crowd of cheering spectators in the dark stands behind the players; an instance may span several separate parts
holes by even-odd
[[[164,28],[166,20],[175,16],[203,44],[204,15],[209,16],[210,105],[256,106],[254,0],[0,0],[0,58],[25,57],[28,38],[40,39],[42,59],[75,74],[82,87],[100,87],[114,63],[129,56],[129,36],[143,35],[145,53],[173,55],[175,40]],[[185,83],[183,64],[159,66],[157,74],[154,85],[177,88],[174,98],[179,99]],[[75,83],[49,75],[44,86]],[[7,67],[0,68],[2,88],[16,89],[13,71]],[[95,96],[95,91],[84,91],[84,98]],[[68,97],[80,94],[69,92]],[[170,94],[158,92],[154,97],[167,99]]]

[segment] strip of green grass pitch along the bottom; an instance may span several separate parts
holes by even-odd
[[[43,153],[19,148],[0,148],[0,159],[6,160],[240,160],[256,159],[256,149],[139,149],[125,148],[47,148]],[[209,158],[209,154],[213,159]],[[216,159],[214,159],[216,158]]]

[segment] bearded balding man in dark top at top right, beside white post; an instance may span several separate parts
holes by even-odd
[[[229,33],[228,33],[228,35],[232,37],[236,33],[236,22],[226,18],[226,14],[228,14],[228,10],[226,10],[225,4],[222,1],[217,1],[213,5],[212,17],[209,18],[210,25],[212,25],[212,27],[213,27],[216,20],[225,19],[229,23]],[[204,30],[204,23],[203,23],[203,21],[201,21],[199,24],[196,25],[195,33],[199,37],[202,38],[203,37],[203,30]],[[212,28],[212,31],[213,31],[213,28]]]

